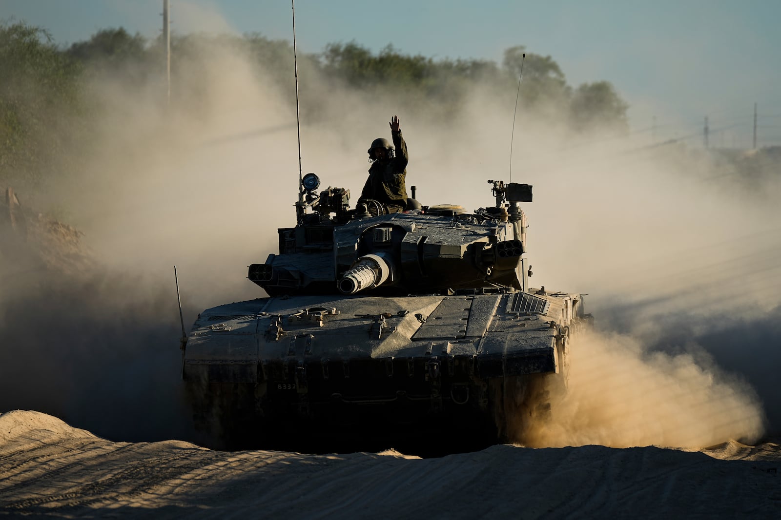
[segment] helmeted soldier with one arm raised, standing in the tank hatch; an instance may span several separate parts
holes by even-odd
[[[369,147],[369,179],[363,186],[361,198],[374,199],[382,203],[388,213],[398,213],[407,207],[407,143],[401,137],[401,129],[397,116],[391,122],[391,137],[393,145],[387,139],[379,137],[372,141]],[[398,154],[394,154],[394,145]]]

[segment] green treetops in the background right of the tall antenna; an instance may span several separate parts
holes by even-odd
[[[524,58],[524,54],[526,58]],[[330,44],[320,55],[323,72],[356,89],[404,94],[405,100],[425,101],[445,111],[470,94],[470,87],[490,86],[511,92],[522,71],[521,105],[544,114],[569,114],[573,129],[608,126],[626,132],[627,105],[608,82],[584,84],[573,91],[551,56],[526,53],[519,45],[505,51],[502,68],[484,60],[444,59],[402,55],[388,45],[377,54],[355,41]]]

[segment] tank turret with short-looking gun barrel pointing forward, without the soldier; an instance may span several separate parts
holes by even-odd
[[[269,295],[386,295],[457,289],[526,288],[526,217],[532,186],[489,181],[494,207],[467,214],[442,205],[403,214],[349,210],[349,192],[316,195],[308,174],[296,204],[298,225],[280,228],[280,253],[252,264],[248,278]],[[380,213],[381,211],[376,211]]]

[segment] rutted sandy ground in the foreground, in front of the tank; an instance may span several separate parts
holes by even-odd
[[[0,416],[0,515],[536,518],[781,515],[781,449],[511,445],[443,458],[111,442],[40,412]],[[28,517],[29,518],[29,517]]]

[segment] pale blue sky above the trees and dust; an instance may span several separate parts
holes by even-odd
[[[170,0],[173,31],[258,32],[292,39],[287,0]],[[0,0],[0,19],[47,29],[58,44],[125,27],[159,34],[162,0]],[[781,145],[781,1],[298,0],[302,52],[356,41],[379,51],[501,62],[505,48],[551,55],[568,83],[608,80],[629,103],[633,132],[656,140]]]

